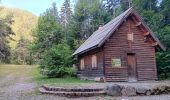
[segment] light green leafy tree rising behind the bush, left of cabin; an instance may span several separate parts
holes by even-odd
[[[47,10],[38,19],[38,25],[33,30],[34,42],[32,50],[43,54],[50,49],[53,44],[58,44],[62,40],[62,31],[60,25],[56,22],[55,16]]]

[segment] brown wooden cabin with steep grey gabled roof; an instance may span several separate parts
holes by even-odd
[[[129,8],[95,31],[73,55],[80,78],[112,81],[157,80],[155,52],[165,50],[159,39]]]

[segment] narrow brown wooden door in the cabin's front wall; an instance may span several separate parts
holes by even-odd
[[[137,81],[136,57],[135,57],[134,53],[128,53],[127,54],[127,62],[128,62],[129,82],[136,82]]]

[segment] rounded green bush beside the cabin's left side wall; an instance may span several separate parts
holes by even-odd
[[[45,52],[40,61],[41,72],[48,77],[73,75],[71,50],[67,44],[58,44]]]

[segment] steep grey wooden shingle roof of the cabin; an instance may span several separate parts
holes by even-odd
[[[74,53],[73,55],[81,54],[87,52],[91,49],[101,47],[102,44],[107,40],[111,34],[121,25],[121,23],[130,15],[135,14],[142,22],[143,26],[151,33],[151,36],[157,41],[160,49],[165,50],[165,47],[160,43],[159,39],[155,34],[147,27],[147,25],[142,21],[141,17],[135,12],[131,7],[110,22],[108,22],[103,27],[96,30]]]

